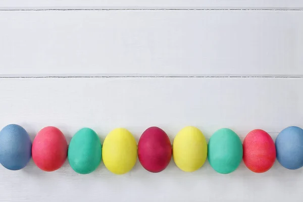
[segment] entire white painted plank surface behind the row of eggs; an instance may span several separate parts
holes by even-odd
[[[303,127],[303,1],[2,0],[0,77],[0,128],[20,124],[32,139],[49,125],[68,141],[82,127],[138,140],[149,126],[173,140],[188,125],[275,139]],[[301,201],[302,187],[303,169],[278,162],[228,175],[208,162],[158,174],[137,162],[121,176],[103,163],[89,175],[68,162],[51,173],[0,166],[7,202]]]

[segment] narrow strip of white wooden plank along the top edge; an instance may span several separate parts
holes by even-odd
[[[302,9],[300,0],[2,0],[1,9]]]

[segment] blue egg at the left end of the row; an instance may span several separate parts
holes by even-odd
[[[9,170],[20,170],[31,158],[31,140],[24,128],[10,124],[0,131],[0,163]]]

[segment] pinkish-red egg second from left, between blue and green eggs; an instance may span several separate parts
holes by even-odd
[[[33,141],[33,161],[43,171],[55,171],[64,164],[67,148],[66,138],[58,128],[45,127],[38,132]]]

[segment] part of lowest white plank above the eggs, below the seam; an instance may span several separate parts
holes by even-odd
[[[194,125],[209,137],[230,127],[278,133],[303,126],[301,78],[1,78],[0,128],[46,125],[72,136],[92,127],[105,137],[126,127],[135,137],[157,125],[173,138]]]

